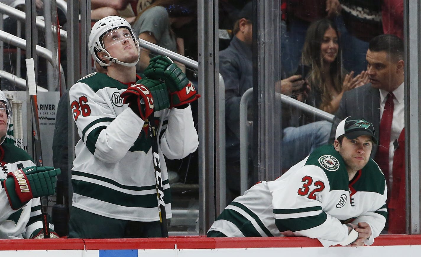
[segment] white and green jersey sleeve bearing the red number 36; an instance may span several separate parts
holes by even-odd
[[[99,160],[116,163],[136,141],[144,121],[130,108],[117,116],[105,98],[82,82],[69,92],[73,119],[83,143]]]

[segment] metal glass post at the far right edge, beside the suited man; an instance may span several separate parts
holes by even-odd
[[[404,1],[407,232],[420,233],[421,3]]]

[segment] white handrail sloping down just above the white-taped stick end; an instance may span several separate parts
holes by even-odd
[[[25,39],[21,39],[20,37],[16,37],[6,31],[2,31],[0,30],[0,41],[6,42],[10,45],[19,47],[21,49],[25,49],[26,48],[26,40]],[[44,48],[41,47],[39,45],[37,45],[37,54],[40,57],[45,58],[49,63],[51,63],[51,65],[53,65],[53,53]],[[61,76],[61,83],[63,84],[63,87],[65,87],[65,81],[64,81],[64,70],[63,67],[60,64],[60,76]],[[53,85],[48,85],[48,91],[55,91],[56,89],[53,88]]]

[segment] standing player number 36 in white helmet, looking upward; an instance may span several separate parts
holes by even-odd
[[[108,16],[96,22],[88,45],[107,74],[91,73],[69,91],[80,136],[72,168],[69,238],[160,237],[148,118],[154,111],[152,122],[159,123],[165,211],[171,218],[164,155],[181,159],[197,149],[189,102],[199,95],[188,80],[185,83],[184,73],[173,74],[168,58],[153,60],[149,78],[136,74],[139,42],[123,18]]]

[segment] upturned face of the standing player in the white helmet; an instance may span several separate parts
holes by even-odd
[[[127,28],[118,28],[105,34],[102,38],[104,49],[113,58],[125,63],[133,63],[138,58],[138,50],[135,42]],[[104,52],[98,53],[99,57],[104,56]]]

